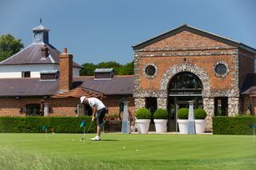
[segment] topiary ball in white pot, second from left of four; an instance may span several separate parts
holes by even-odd
[[[166,132],[168,113],[166,109],[157,109],[154,112],[154,125],[156,132]]]

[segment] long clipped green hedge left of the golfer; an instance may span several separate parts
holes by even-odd
[[[82,133],[82,121],[86,120],[86,132],[90,126],[91,117],[0,117],[0,132],[47,132]],[[89,132],[96,132],[93,122]]]

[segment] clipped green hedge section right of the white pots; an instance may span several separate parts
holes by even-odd
[[[256,125],[256,117],[213,117],[213,134],[218,135],[252,135]],[[256,130],[256,129],[255,129]]]

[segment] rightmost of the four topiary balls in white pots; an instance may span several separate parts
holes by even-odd
[[[206,116],[207,113],[204,109],[194,109],[194,124],[196,133],[200,134],[205,132]]]

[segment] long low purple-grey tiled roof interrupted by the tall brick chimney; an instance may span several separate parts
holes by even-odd
[[[74,77],[72,90],[66,94],[79,95],[79,86],[88,93],[104,95],[133,94],[134,76],[115,76],[112,79],[98,79],[94,77]],[[42,81],[40,78],[0,78],[0,97],[32,97],[54,96],[58,94],[58,79]]]

